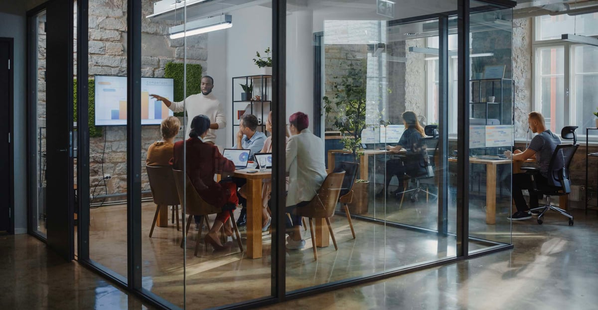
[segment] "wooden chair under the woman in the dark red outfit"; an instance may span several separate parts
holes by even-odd
[[[185,238],[189,234],[189,227],[191,225],[191,220],[193,216],[200,216],[199,222],[199,231],[197,231],[197,240],[195,244],[195,256],[197,256],[197,250],[199,248],[199,241],[202,239],[202,229],[203,229],[203,222],[206,222],[206,225],[209,229],[208,223],[208,215],[209,214],[216,214],[222,211],[222,208],[215,207],[214,205],[208,204],[205,200],[200,197],[197,193],[195,187],[191,183],[191,179],[187,176],[184,171],[181,170],[174,170],[172,169],[172,173],[174,174],[175,184],[176,184],[176,191],[179,195],[179,200],[182,202],[184,206],[185,213],[189,215],[187,220],[187,227],[185,228],[185,232],[183,233],[183,240],[181,241],[181,247],[183,247]],[[185,183],[183,183],[185,180]],[[234,220],[233,211],[230,211],[230,219],[228,220],[233,227],[234,233],[236,235],[237,244],[239,244],[239,250],[243,252],[243,244],[241,243],[241,236],[239,234],[239,229],[237,229],[237,223]],[[225,225],[227,223],[224,223]]]

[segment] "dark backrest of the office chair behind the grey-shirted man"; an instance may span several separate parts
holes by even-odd
[[[578,144],[560,144],[554,149],[553,156],[550,158],[548,166],[548,185],[560,187],[563,192],[571,192],[571,182],[569,179],[569,165],[575,155]]]

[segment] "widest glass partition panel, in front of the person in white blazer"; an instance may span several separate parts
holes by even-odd
[[[401,19],[454,11],[456,2],[378,4],[289,7],[287,291],[455,254],[440,162],[448,148],[438,143],[448,119],[438,56],[448,44],[438,45],[438,19]]]

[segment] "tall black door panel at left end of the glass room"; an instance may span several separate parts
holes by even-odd
[[[73,1],[47,2],[46,143],[48,245],[74,259]]]

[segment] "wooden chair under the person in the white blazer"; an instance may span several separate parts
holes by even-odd
[[[313,226],[313,219],[326,219],[328,231],[334,243],[334,249],[338,250],[332,226],[330,226],[330,217],[334,215],[334,209],[338,202],[338,195],[340,194],[343,185],[344,171],[329,173],[322,186],[312,198],[309,204],[304,207],[296,208],[297,215],[307,217],[309,219],[310,233],[312,234],[313,258],[318,260],[318,250],[316,250],[315,229]]]

